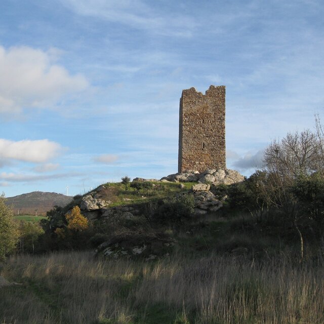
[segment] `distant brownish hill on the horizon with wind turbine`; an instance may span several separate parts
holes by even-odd
[[[6,204],[13,208],[17,215],[45,215],[54,206],[64,207],[73,197],[56,192],[33,191],[18,196],[8,197]]]

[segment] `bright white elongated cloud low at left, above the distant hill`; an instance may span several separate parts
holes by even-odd
[[[9,141],[0,139],[0,159],[45,163],[63,150],[58,143],[45,140]]]

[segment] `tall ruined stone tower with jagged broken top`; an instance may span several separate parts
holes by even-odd
[[[182,91],[178,172],[226,169],[225,86]]]

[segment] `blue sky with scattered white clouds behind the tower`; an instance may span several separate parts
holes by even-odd
[[[227,168],[324,119],[322,0],[1,0],[0,193],[177,172],[179,98],[226,86]]]

